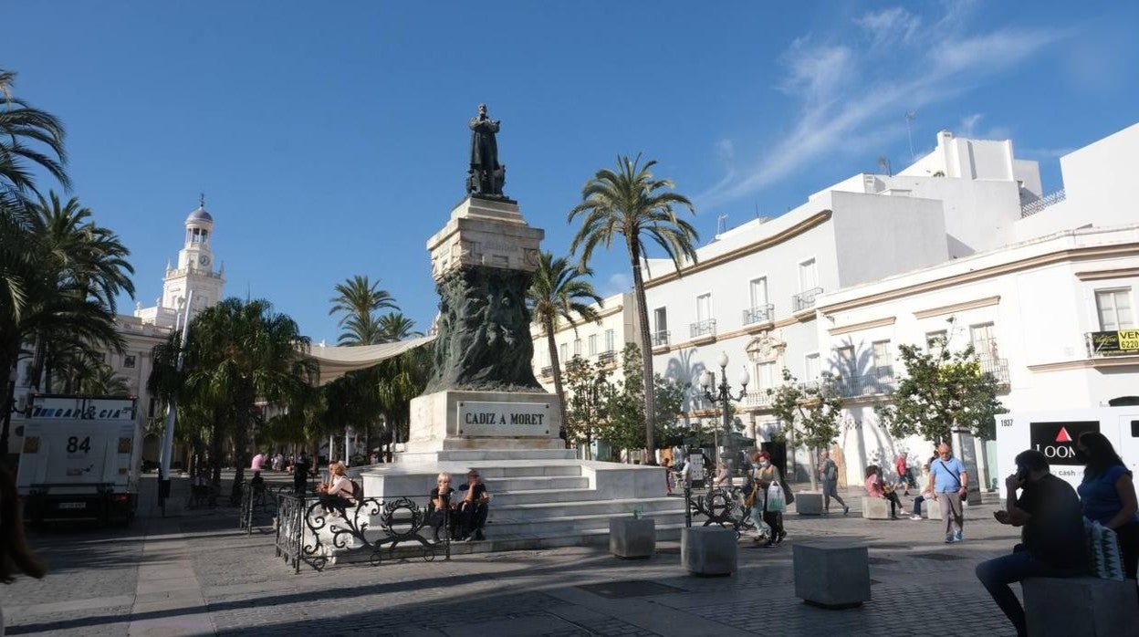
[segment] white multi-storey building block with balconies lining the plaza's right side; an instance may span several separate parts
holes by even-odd
[[[682,276],[653,262],[656,368],[696,386],[721,351],[729,381],[746,366],[755,381],[741,420],[761,441],[779,426],[764,390],[782,368],[800,381],[841,376],[850,483],[895,452],[927,454],[926,442],[893,440],[872,403],[888,400],[896,344],[929,333],[947,330],[951,346],[973,342],[1006,381],[1010,409],[1139,393],[1137,357],[1084,348],[1090,332],[1134,326],[1139,228],[1112,226],[1139,220],[1139,187],[1123,179],[1139,165],[1139,125],[1060,164],[1066,201],[1043,196],[1035,162],[1017,160],[1011,142],[941,132],[933,153],[896,175],[855,175],[718,236]]]

